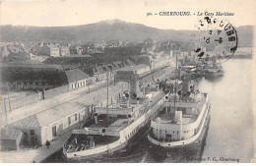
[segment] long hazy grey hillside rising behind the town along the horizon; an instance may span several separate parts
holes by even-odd
[[[236,28],[240,46],[252,45],[253,27]],[[187,40],[192,30],[150,28],[120,20],[102,21],[96,24],[73,27],[0,27],[1,41],[65,41],[88,42],[121,39],[142,42],[146,38],[157,40]]]

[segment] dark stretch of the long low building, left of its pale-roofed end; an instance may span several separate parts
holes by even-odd
[[[1,82],[10,89],[48,89],[66,79],[60,65],[10,63],[1,66]]]

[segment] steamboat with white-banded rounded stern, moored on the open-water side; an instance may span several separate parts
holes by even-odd
[[[182,89],[169,93],[163,107],[148,133],[154,156],[179,161],[202,151],[211,118],[208,94],[196,89],[191,76],[185,75]]]

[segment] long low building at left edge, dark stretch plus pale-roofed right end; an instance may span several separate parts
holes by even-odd
[[[69,89],[94,82],[80,69],[65,70],[61,65],[51,64],[3,64],[1,81],[10,89],[49,89],[69,84]]]

